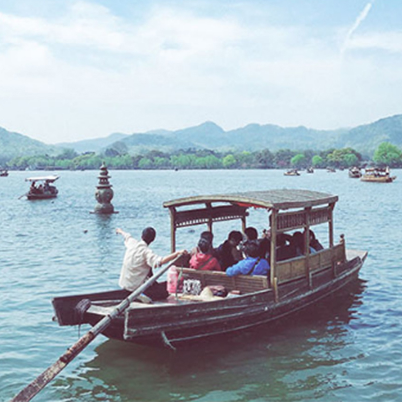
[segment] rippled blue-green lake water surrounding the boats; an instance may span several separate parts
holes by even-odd
[[[390,184],[350,179],[347,171],[110,171],[119,214],[108,217],[90,214],[98,171],[59,172],[56,199],[18,199],[29,186],[25,177],[37,173],[0,178],[0,400],[78,339],[78,328],[52,321],[52,297],[118,287],[125,249],[115,228],[138,237],[154,226],[152,248],[165,254],[165,200],[273,188],[339,195],[335,239],[344,233],[347,248],[369,252],[353,289],[280,324],[177,352],[99,335],[33,400],[402,400],[402,171],[392,171],[398,178]],[[259,231],[263,214],[250,221]],[[216,228],[218,245],[228,228]],[[192,248],[202,230],[179,230],[178,247]]]

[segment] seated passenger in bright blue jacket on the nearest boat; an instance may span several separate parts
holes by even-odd
[[[255,240],[247,241],[244,244],[246,258],[232,265],[226,270],[226,275],[267,275],[269,272],[269,263],[266,259],[260,258],[259,245]]]

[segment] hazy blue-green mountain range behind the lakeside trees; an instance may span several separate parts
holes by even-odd
[[[131,135],[113,133],[104,138],[53,145],[0,128],[0,164],[17,156],[57,155],[63,149],[73,149],[78,153],[102,153],[109,149],[114,154],[134,155],[151,150],[172,152],[189,148],[216,151],[256,151],[267,148],[275,152],[279,149],[321,151],[351,147],[364,156],[371,156],[384,141],[402,147],[402,115],[338,130],[249,124],[225,131],[213,122],[206,122],[176,131],[153,130]]]

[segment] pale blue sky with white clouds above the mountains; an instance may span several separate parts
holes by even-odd
[[[400,0],[0,0],[0,127],[47,144],[400,113]]]

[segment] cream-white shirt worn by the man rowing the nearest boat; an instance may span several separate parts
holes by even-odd
[[[152,252],[144,240],[135,240],[130,234],[124,235],[126,254],[120,272],[119,285],[133,291],[141,286],[153,267],[160,267],[163,257]]]

